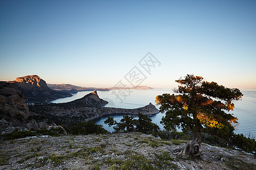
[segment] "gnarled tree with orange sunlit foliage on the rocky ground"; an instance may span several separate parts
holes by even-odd
[[[203,82],[201,76],[187,75],[174,92],[180,95],[163,94],[156,96],[156,104],[161,105],[160,112],[166,112],[161,123],[166,129],[181,128],[191,130],[193,139],[180,154],[201,155],[201,132],[233,133],[238,118],[225,111],[233,111],[233,100],[243,96],[237,88],[225,88],[215,82]],[[182,95],[181,95],[182,94]]]

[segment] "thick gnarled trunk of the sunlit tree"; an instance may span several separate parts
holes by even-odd
[[[193,139],[189,146],[189,154],[192,156],[200,156],[201,155],[201,133],[200,131],[193,131]]]

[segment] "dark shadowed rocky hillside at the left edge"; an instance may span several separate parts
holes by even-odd
[[[29,111],[22,92],[13,83],[0,82],[0,133],[7,128],[47,128],[48,120]]]

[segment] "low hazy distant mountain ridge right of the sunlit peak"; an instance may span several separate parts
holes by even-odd
[[[71,91],[71,90],[76,90],[76,91],[109,91],[108,88],[96,88],[96,87],[80,87],[80,86],[75,86],[72,84],[47,84],[47,86],[53,90],[66,90],[66,91]]]

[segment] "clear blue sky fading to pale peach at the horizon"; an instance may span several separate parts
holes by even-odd
[[[151,52],[149,75],[138,62]],[[256,1],[0,1],[0,80],[112,87],[137,66],[142,85],[195,74],[256,87]]]

